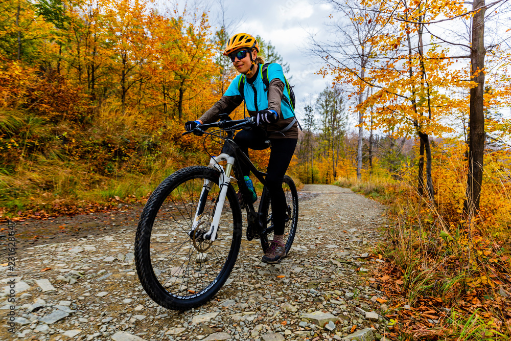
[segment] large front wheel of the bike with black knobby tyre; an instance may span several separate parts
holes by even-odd
[[[217,237],[204,238],[219,199],[219,177],[212,168],[183,168],[166,178],[144,207],[135,236],[136,270],[149,297],[162,307],[188,310],[204,304],[236,263],[242,217],[230,184]],[[200,223],[193,228],[197,212]]]

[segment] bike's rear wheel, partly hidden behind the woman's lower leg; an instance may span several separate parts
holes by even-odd
[[[289,254],[291,245],[293,245],[294,236],[296,235],[296,227],[298,224],[298,193],[293,179],[288,175],[284,176],[282,181],[282,189],[286,196],[286,221],[284,225],[284,243],[286,245],[286,255]],[[273,240],[273,221],[271,213],[270,196],[266,195],[263,205],[263,232],[261,233],[261,247],[266,253],[269,242]]]

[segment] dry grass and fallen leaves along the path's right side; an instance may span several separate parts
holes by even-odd
[[[352,188],[387,204],[387,242],[378,253],[387,260],[386,274],[402,283],[386,292],[393,305],[427,305],[450,313],[434,329],[419,321],[395,331],[397,339],[508,340],[511,339],[509,299],[511,292],[510,185],[506,174],[486,169],[481,213],[464,216],[453,209],[457,199],[431,203],[416,194],[415,187],[388,179],[340,178],[337,185]],[[463,180],[463,179],[461,179]],[[394,310],[398,313],[399,309]],[[406,322],[406,315],[400,322]],[[440,327],[439,327],[440,326]],[[440,330],[437,330],[440,328]],[[436,331],[435,331],[436,330]]]

